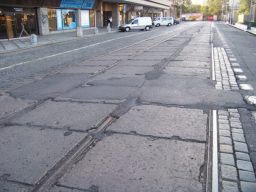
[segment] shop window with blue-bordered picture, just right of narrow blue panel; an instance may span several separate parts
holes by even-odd
[[[62,9],[63,28],[76,28],[76,13],[74,9]]]

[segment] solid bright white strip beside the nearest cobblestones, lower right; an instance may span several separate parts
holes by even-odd
[[[219,191],[217,111],[212,110],[212,192]]]

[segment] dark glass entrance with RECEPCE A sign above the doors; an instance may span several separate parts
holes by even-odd
[[[36,34],[36,16],[33,8],[0,7],[4,14],[0,39],[12,39]],[[28,13],[24,13],[28,12]]]

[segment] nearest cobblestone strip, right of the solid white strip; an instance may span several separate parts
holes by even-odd
[[[255,174],[237,109],[219,110],[219,163],[222,192],[256,191]]]

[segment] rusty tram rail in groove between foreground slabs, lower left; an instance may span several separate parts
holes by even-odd
[[[108,117],[92,134],[100,134],[103,132],[116,117]],[[32,192],[44,192],[49,188],[84,151],[92,145],[96,139],[89,135],[85,138],[59,165],[57,165],[52,172],[50,172]]]

